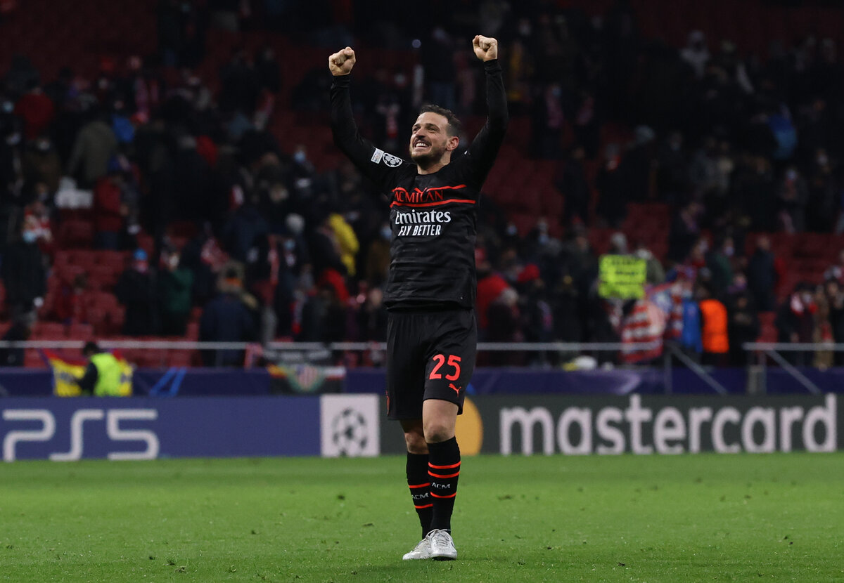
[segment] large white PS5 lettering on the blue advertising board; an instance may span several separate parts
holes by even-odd
[[[67,452],[52,452],[49,458],[55,462],[70,462],[81,459],[84,452],[84,429],[86,422],[106,420],[106,436],[109,440],[143,441],[143,451],[109,452],[111,460],[155,459],[158,457],[160,444],[154,431],[143,429],[125,429],[121,421],[141,421],[158,419],[155,409],[77,409],[70,418],[70,448]],[[3,461],[14,462],[18,444],[26,442],[51,441],[56,436],[56,417],[49,409],[4,409],[3,425],[9,422],[33,422],[40,427],[8,431],[3,437]],[[89,424],[91,425],[91,424]],[[101,430],[100,430],[101,431]]]

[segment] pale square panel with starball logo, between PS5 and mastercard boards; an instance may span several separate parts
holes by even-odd
[[[380,453],[376,395],[322,395],[320,415],[323,457]]]

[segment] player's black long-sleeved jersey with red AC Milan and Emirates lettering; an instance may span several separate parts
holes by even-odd
[[[433,174],[360,136],[349,99],[350,75],[331,87],[334,142],[390,201],[390,273],[384,292],[389,310],[472,308],[481,186],[507,126],[507,102],[497,60],[484,62],[486,124],[463,155]],[[456,151],[457,152],[457,151]]]

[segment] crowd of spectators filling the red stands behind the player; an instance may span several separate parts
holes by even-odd
[[[254,54],[238,46],[215,83],[197,72],[208,27],[260,25],[332,50],[413,48],[418,67],[355,81],[365,135],[398,154],[423,101],[484,115],[465,40],[478,29],[500,40],[511,114],[530,120],[525,153],[554,161],[549,194],[564,211],[520,233],[484,199],[480,340],[655,334],[704,362],[742,365],[760,313],[776,313],[782,341],[844,342],[844,254],[818,281],[782,289],[784,265],[760,234],[844,232],[844,77],[833,40],[783,39],[761,58],[690,30],[677,48],[644,38],[623,0],[593,18],[554,3],[436,1],[425,31],[401,11],[385,22],[377,3],[348,3],[349,21],[365,27],[294,18],[284,3],[228,4],[162,0],[158,53],[104,58],[95,78],[71,63],[43,78],[14,57],[0,85],[0,252],[5,313],[16,323],[7,339],[27,337],[35,313],[85,321],[85,274],[62,281],[43,309],[62,197],[85,191],[93,248],[128,254],[113,287],[122,334],[181,336],[201,308],[199,340],[384,339],[387,205],[348,163],[317,170],[304,145],[268,131],[279,94],[303,115],[327,115],[325,67],[289,86],[270,45]],[[267,18],[258,24],[253,12]],[[671,209],[664,254],[620,230],[631,203]],[[594,228],[615,229],[610,252],[647,260],[648,284],[671,298],[664,316],[649,309],[653,297],[598,296]],[[625,360],[652,357],[632,350]]]

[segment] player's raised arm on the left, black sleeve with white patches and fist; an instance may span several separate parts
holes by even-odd
[[[334,76],[331,84],[331,131],[334,143],[349,160],[372,179],[376,185],[386,190],[391,189],[396,175],[396,165],[381,163],[390,156],[376,148],[369,140],[360,136],[358,126],[354,123],[352,101],[349,97],[352,67],[354,67],[354,51],[347,46],[342,51],[328,57],[328,69]],[[390,157],[389,159],[398,158]]]

